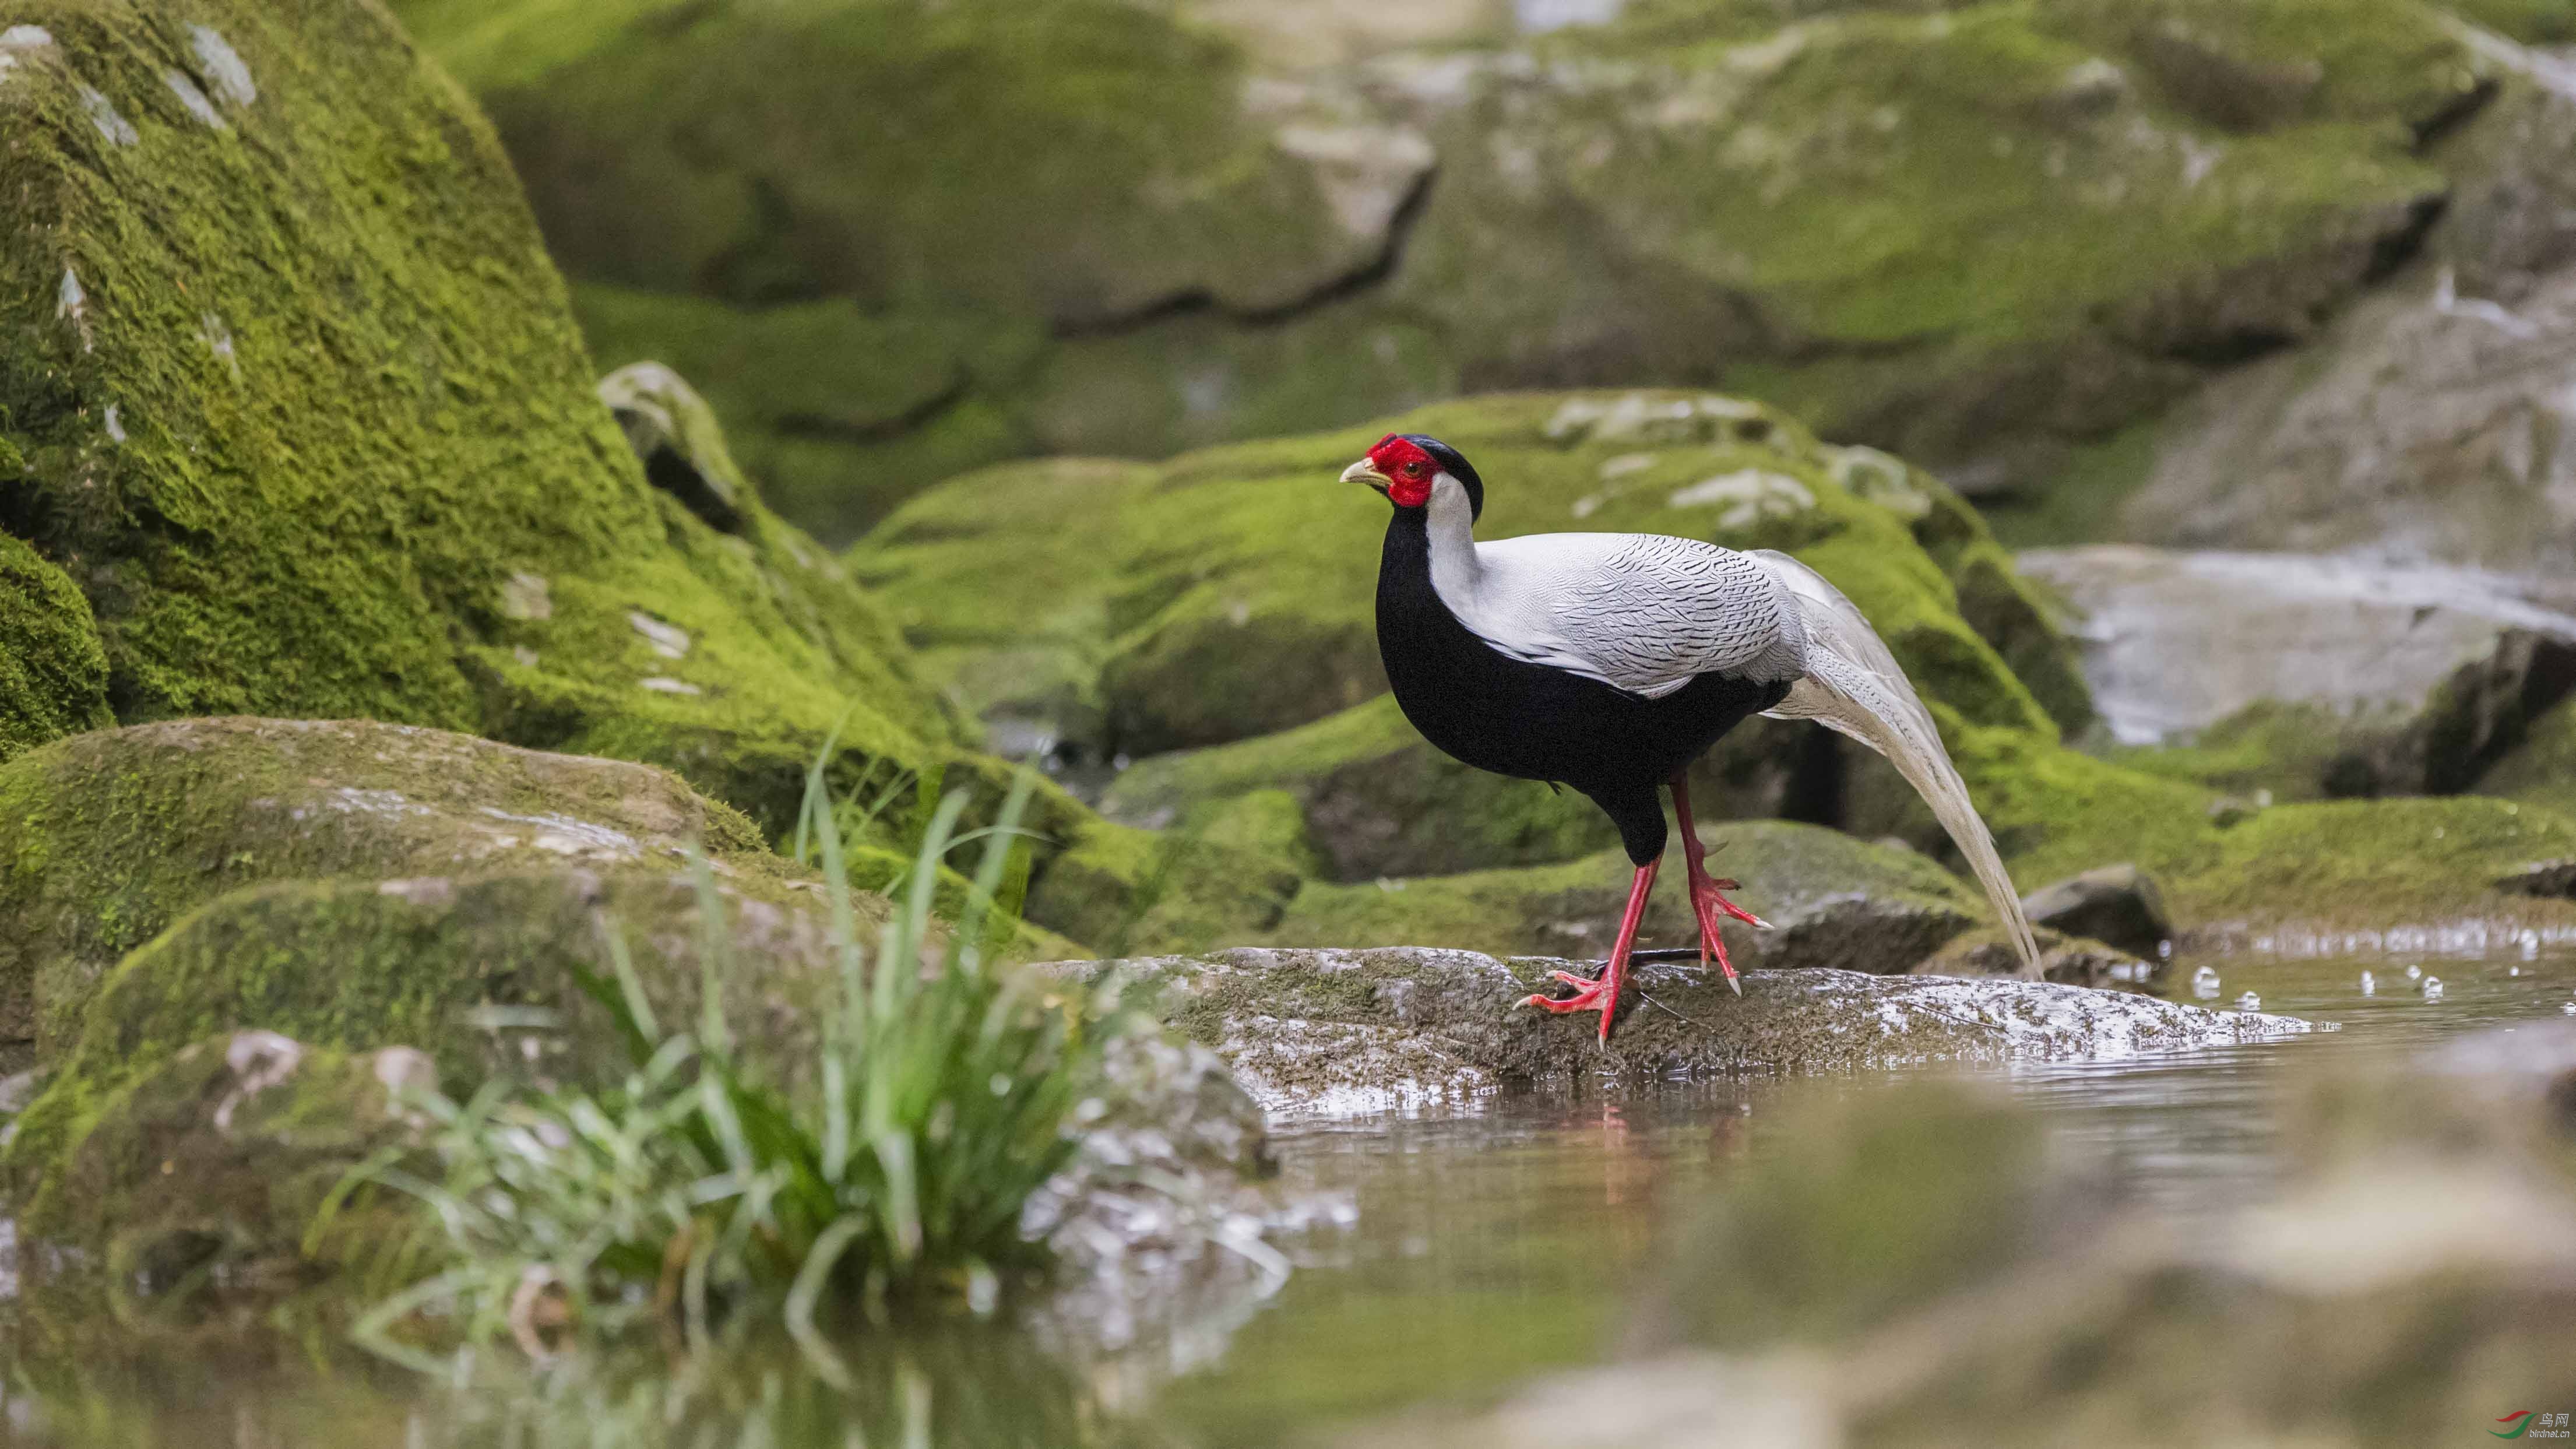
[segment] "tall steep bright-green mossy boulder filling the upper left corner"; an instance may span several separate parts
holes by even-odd
[[[374,3],[36,0],[0,52],[0,526],[124,722],[374,717],[672,766],[778,828],[951,743],[757,500],[647,482],[510,162]]]

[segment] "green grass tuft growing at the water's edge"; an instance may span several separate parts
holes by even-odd
[[[701,861],[696,1024],[657,1018],[608,928],[611,972],[585,987],[626,1036],[631,1070],[616,1091],[495,1080],[469,1101],[428,1096],[428,1152],[350,1176],[340,1199],[384,1186],[425,1207],[389,1258],[417,1281],[361,1320],[361,1343],[438,1372],[425,1336],[515,1338],[549,1359],[577,1338],[657,1328],[688,1346],[770,1320],[840,1377],[827,1323],[992,1312],[1043,1271],[1023,1209],[1074,1152],[1072,1114],[1097,1075],[1110,1000],[987,959],[1007,938],[994,902],[1036,779],[1023,771],[999,822],[969,835],[966,794],[940,799],[871,944],[848,887],[853,802],[832,797],[824,758],[799,820],[799,853],[822,861],[840,969],[817,1060],[762,1070],[726,1029],[732,933]],[[969,838],[981,838],[981,864],[943,923],[940,861]]]

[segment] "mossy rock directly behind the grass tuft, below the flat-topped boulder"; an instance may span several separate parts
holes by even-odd
[[[585,975],[613,980],[618,931],[662,1021],[696,1021],[708,969],[708,897],[685,877],[580,866],[397,882],[273,882],[224,895],[126,957],[0,1158],[21,1189],[59,1191],[57,1168],[113,1098],[209,1034],[258,1029],[307,1047],[410,1044],[443,1080],[495,1073],[605,1080],[626,1044]],[[724,1006],[744,1042],[796,1060],[840,990],[817,900],[714,897]],[[868,920],[873,915],[873,920]],[[884,905],[863,900],[863,936]]]

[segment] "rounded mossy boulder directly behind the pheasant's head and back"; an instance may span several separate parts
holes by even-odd
[[[1350,433],[1280,438],[1121,474],[1082,495],[1087,516],[1048,541],[1005,534],[1012,559],[1056,578],[1108,575],[1061,601],[1066,627],[1097,629],[1103,748],[1149,755],[1306,724],[1383,694],[1373,601],[1383,505],[1334,485],[1386,431],[1435,433],[1486,477],[1481,534],[1610,529],[1780,547],[1844,588],[1927,696],[1984,724],[2056,735],[2056,722],[1960,614],[1978,614],[2035,660],[2050,694],[2089,717],[2074,657],[2012,580],[1976,513],[1947,487],[1870,449],[1816,443],[1788,418],[1698,392],[1530,394],[1450,402]],[[987,596],[961,567],[994,539],[966,516],[1012,516],[1030,498],[1056,518],[1056,469],[953,480],[889,518],[850,565],[914,621],[992,619],[1023,593]],[[940,554],[933,544],[956,544]],[[999,552],[999,549],[997,549]],[[1007,616],[1007,614],[1005,614]],[[956,639],[922,624],[925,639]],[[1054,657],[1074,657],[1066,642]]]

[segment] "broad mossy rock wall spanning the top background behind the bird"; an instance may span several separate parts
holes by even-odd
[[[711,379],[835,539],[1028,451],[1636,379],[2045,490],[2403,258],[2504,75],[2411,0],[399,10],[603,361]]]

